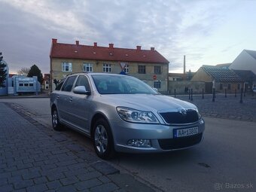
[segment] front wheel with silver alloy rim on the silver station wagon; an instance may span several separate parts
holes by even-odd
[[[93,147],[103,160],[109,160],[115,155],[113,135],[105,119],[96,120],[93,126]]]

